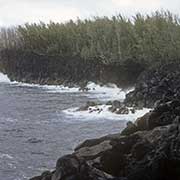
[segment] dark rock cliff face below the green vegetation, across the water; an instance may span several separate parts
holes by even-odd
[[[143,71],[133,61],[122,66],[118,63],[103,64],[98,59],[46,56],[24,50],[1,51],[0,68],[11,80],[29,83],[79,84],[94,81],[119,86],[133,85]]]

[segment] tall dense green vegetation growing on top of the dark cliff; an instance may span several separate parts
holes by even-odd
[[[180,60],[180,19],[168,11],[2,28],[0,50],[148,68]],[[68,61],[69,63],[69,61]]]

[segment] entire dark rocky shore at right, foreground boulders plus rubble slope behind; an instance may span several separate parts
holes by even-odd
[[[143,74],[123,107],[152,111],[119,134],[86,140],[61,157],[55,171],[31,180],[180,179],[179,72],[179,65],[171,64]]]

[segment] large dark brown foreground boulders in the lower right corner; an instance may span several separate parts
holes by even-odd
[[[180,179],[180,101],[159,104],[119,134],[86,140],[31,180]]]

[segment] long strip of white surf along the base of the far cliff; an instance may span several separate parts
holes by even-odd
[[[30,88],[40,88],[48,93],[80,93],[84,96],[88,96],[88,98],[95,98],[103,101],[107,100],[124,100],[126,94],[133,90],[129,89],[123,91],[121,88],[117,87],[115,84],[108,84],[108,85],[99,85],[94,82],[89,82],[86,86],[87,91],[84,92],[80,90],[80,87],[67,87],[64,85],[40,85],[40,84],[29,84],[29,83],[22,83],[17,81],[10,81],[7,75],[0,73],[0,83],[8,83],[13,86],[18,87],[30,87]]]

